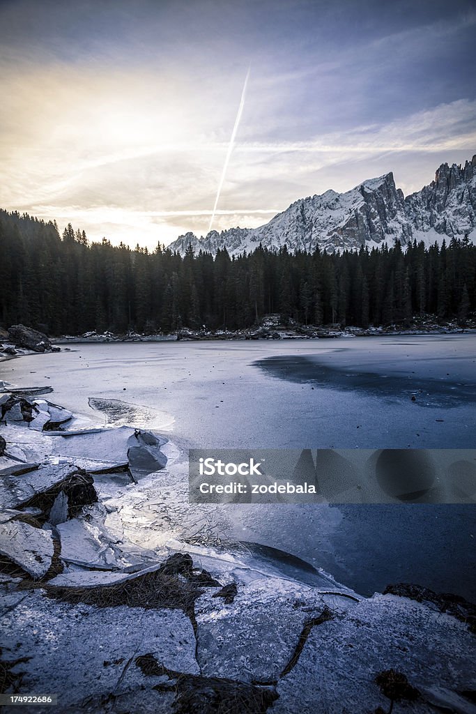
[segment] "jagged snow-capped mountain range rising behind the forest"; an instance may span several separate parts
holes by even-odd
[[[447,237],[465,236],[476,229],[476,155],[465,166],[442,164],[435,181],[421,191],[403,196],[395,186],[393,174],[371,178],[351,191],[326,191],[295,201],[283,213],[259,228],[230,228],[210,231],[206,237],[193,233],[180,236],[169,246],[184,253],[192,246],[216,253],[226,247],[237,255],[253,251],[261,243],[278,250],[321,250],[333,252],[360,246],[373,246],[400,240],[405,245],[413,238],[433,243]]]

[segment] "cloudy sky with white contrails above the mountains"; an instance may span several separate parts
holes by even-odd
[[[0,207],[155,248],[407,195],[476,153],[475,36],[472,0],[0,0]]]

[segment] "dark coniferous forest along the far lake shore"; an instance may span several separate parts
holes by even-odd
[[[89,243],[71,225],[0,211],[0,321],[51,335],[110,330],[238,330],[280,313],[307,325],[380,326],[431,313],[464,323],[476,309],[476,247],[467,236],[426,248],[327,254],[258,247],[181,257],[163,246]]]

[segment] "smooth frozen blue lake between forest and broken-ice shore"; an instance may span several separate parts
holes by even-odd
[[[475,446],[475,335],[70,347],[3,363],[2,378],[51,386],[96,422],[89,398],[143,406],[124,420],[183,448]],[[243,540],[363,594],[407,581],[475,597],[474,506],[229,508]]]

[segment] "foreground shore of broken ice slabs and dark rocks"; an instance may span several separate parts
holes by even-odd
[[[175,444],[50,393],[0,391],[4,691],[68,712],[474,713],[474,606],[290,577],[188,503]]]

